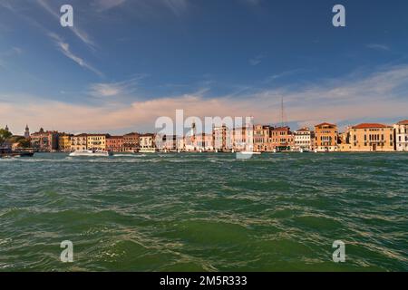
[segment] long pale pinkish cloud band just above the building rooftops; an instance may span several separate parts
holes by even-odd
[[[121,91],[121,82],[97,85],[95,92],[106,96]],[[124,85],[126,87],[126,85]],[[287,121],[313,125],[316,121],[337,123],[362,120],[406,119],[408,111],[408,65],[389,67],[376,73],[351,74],[341,80],[321,81],[314,85],[289,89],[260,90],[242,96],[209,98],[207,91],[140,102],[96,106],[67,102],[44,102],[37,97],[8,96],[0,103],[4,120],[21,120],[63,131],[118,131],[123,128],[153,129],[160,116],[172,117],[176,109],[186,116],[255,116],[256,121],[274,123],[280,100],[286,104]],[[1,96],[5,99],[7,96]],[[24,106],[13,99],[24,100]],[[398,120],[395,120],[398,121]],[[24,125],[23,124],[23,125]]]

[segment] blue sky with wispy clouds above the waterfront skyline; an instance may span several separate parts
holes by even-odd
[[[293,130],[392,124],[408,119],[407,12],[405,0],[0,0],[0,127],[154,131],[177,109],[273,125],[282,99]]]

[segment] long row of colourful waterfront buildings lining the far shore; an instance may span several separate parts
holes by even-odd
[[[69,134],[41,129],[33,134],[28,126],[24,137],[39,151],[108,150],[136,151],[408,151],[408,120],[393,125],[362,123],[340,132],[335,124],[324,122],[313,130],[302,128],[254,125],[228,129],[213,127],[211,133],[196,133],[195,126],[188,136],[141,134],[131,132],[121,136],[110,134]]]

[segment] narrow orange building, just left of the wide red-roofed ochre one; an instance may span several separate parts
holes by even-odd
[[[337,150],[337,139],[337,125],[324,122],[315,126],[315,146],[317,151]]]

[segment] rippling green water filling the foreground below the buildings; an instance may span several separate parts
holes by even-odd
[[[39,153],[0,180],[1,271],[408,271],[408,154]]]

